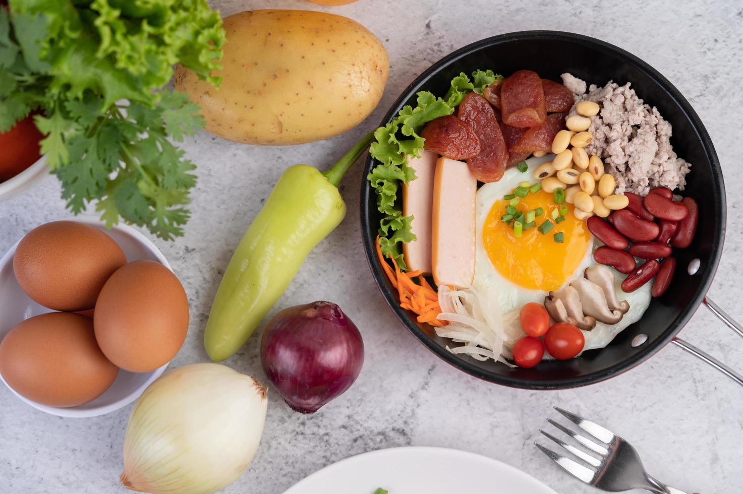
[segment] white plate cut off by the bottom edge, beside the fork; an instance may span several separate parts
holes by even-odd
[[[500,461],[433,447],[380,449],[353,456],[294,485],[284,494],[557,494]]]

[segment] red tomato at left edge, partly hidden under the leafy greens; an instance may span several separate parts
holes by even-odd
[[[0,133],[0,182],[15,177],[41,157],[42,137],[31,115],[16,122],[13,129]]]

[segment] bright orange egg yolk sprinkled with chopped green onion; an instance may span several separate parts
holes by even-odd
[[[573,215],[573,205],[565,204],[568,212],[565,221],[554,225],[546,234],[539,226],[546,220],[553,224],[554,195],[543,190],[529,193],[519,201],[516,209],[524,213],[541,207],[544,212],[534,220],[536,227],[513,235],[509,224],[501,221],[510,201],[496,201],[482,227],[482,244],[493,267],[510,282],[533,290],[557,290],[565,284],[583,260],[591,245],[591,233],[585,221]],[[562,233],[562,244],[554,241],[554,234]]]

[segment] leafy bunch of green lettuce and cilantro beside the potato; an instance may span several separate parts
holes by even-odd
[[[172,141],[204,126],[163,89],[181,63],[218,84],[221,17],[206,0],[10,0],[0,7],[0,132],[30,111],[74,214],[88,203],[160,238],[182,235],[193,163]]]

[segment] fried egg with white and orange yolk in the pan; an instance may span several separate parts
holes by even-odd
[[[588,231],[585,221],[573,215],[573,205],[565,204],[568,212],[565,221],[555,224],[552,230],[542,234],[538,227],[546,219],[552,219],[552,211],[558,209],[554,204],[554,194],[539,190],[521,198],[516,207],[519,211],[542,208],[542,215],[536,217],[536,227],[525,230],[520,237],[514,235],[507,223],[501,221],[510,201],[504,195],[522,181],[534,183],[533,171],[554,155],[527,160],[528,169],[519,172],[512,168],[506,170],[498,182],[485,183],[476,196],[476,254],[475,278],[473,287],[495,288],[498,304],[503,314],[520,311],[528,302],[543,304],[549,292],[559,290],[575,279],[583,276],[586,267],[596,264],[593,253],[601,242]],[[554,234],[562,233],[563,242],[555,241]],[[597,322],[591,331],[583,331],[584,350],[603,348],[624,328],[636,322],[650,303],[651,284],[647,283],[632,293],[624,293],[620,284],[626,275],[616,270],[614,274],[617,298],[627,300],[629,311],[620,322],[606,325]]]

